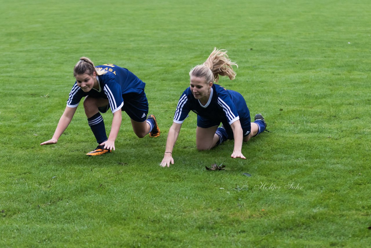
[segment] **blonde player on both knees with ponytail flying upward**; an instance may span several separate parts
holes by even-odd
[[[215,84],[218,83],[219,75],[228,76],[230,80],[236,76],[232,65],[237,64],[231,62],[226,52],[214,48],[206,62],[190,71],[190,87],[181,95],[175,110],[162,167],[174,164],[173,147],[190,111],[197,114],[196,146],[200,151],[234,139],[231,157],[246,159],[241,152],[242,142],[266,131],[267,124],[261,114],[257,114],[255,122],[250,123],[250,111],[240,93]]]

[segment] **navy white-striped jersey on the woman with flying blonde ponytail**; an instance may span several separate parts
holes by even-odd
[[[229,125],[239,120],[240,115],[245,117],[249,113],[240,93],[226,90],[218,84],[213,84],[211,87],[210,98],[206,105],[202,105],[198,99],[195,99],[188,87],[179,99],[174,122],[183,123],[190,111],[206,119],[229,123]]]

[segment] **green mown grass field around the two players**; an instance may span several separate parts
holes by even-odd
[[[0,247],[368,247],[370,2],[1,1]],[[189,70],[212,49],[239,68],[220,84],[272,133],[196,149],[196,115],[162,168]],[[80,106],[52,138],[81,56],[146,82],[159,138],[124,113],[116,151]],[[112,115],[103,115],[110,130]],[[213,163],[231,170],[207,171]],[[248,173],[247,177],[243,173]]]

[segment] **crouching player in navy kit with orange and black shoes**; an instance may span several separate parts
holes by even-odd
[[[60,135],[68,127],[82,97],[88,124],[98,142],[97,148],[86,155],[101,155],[115,150],[115,140],[121,126],[122,110],[130,117],[134,133],[143,138],[160,136],[160,129],[154,115],[148,114],[148,101],[144,93],[145,83],[128,69],[114,64],[94,66],[86,57],[80,58],[73,76],[76,82],[72,87],[67,106],[60,117],[52,139],[40,145],[56,144]],[[107,138],[101,113],[111,108],[113,114],[111,132]]]

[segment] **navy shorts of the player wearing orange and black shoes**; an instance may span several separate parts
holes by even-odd
[[[144,91],[141,94],[129,93],[122,95],[124,106],[121,110],[136,122],[144,122],[148,115],[148,100]],[[109,109],[109,104],[104,107],[99,107],[99,112],[105,113]]]

